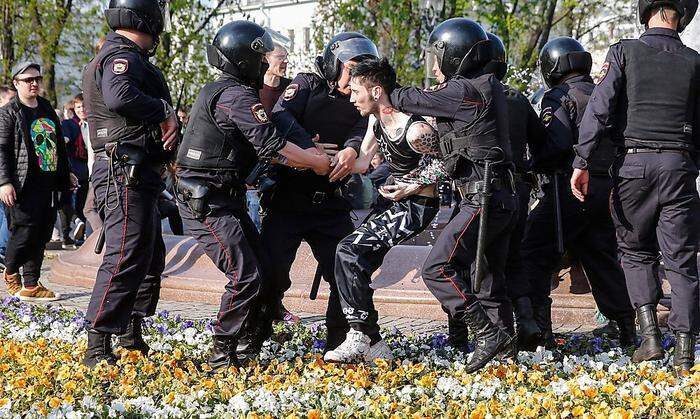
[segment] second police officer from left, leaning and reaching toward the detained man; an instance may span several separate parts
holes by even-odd
[[[258,89],[273,49],[270,34],[255,23],[219,29],[207,57],[222,74],[200,91],[177,156],[184,226],[229,280],[214,323],[213,369],[237,365],[237,340],[244,326],[259,321],[258,294],[269,266],[246,211],[246,178],[258,159],[329,171],[325,154],[287,142],[265,112]]]

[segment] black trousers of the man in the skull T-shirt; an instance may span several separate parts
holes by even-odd
[[[41,274],[46,243],[56,222],[58,193],[25,185],[13,207],[5,207],[10,237],[5,267],[17,273],[22,268],[25,286],[35,286]]]

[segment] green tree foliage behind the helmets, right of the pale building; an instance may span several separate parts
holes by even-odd
[[[319,47],[340,30],[357,30],[377,40],[400,80],[420,84],[426,75],[423,48],[432,28],[450,17],[468,17],[503,39],[510,82],[525,88],[532,82],[540,49],[554,36],[573,36],[583,39],[589,49],[600,49],[632,35],[636,16],[630,4],[623,0],[321,0],[314,25]]]

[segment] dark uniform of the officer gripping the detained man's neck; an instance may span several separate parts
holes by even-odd
[[[456,157],[443,151],[443,157],[463,199],[459,212],[445,226],[423,266],[423,281],[440,300],[444,309],[455,319],[464,319],[466,309],[478,301],[491,320],[503,325],[501,319],[506,303],[504,270],[508,242],[516,221],[517,199],[508,180],[511,152],[508,141],[508,121],[503,87],[492,75],[467,79],[454,76],[431,89],[404,87],[391,94],[392,104],[402,112],[434,116],[441,137],[441,149],[454,139],[454,151],[462,148],[458,140],[467,142],[474,160]],[[503,151],[502,162],[494,169],[498,182],[493,185],[486,238],[488,272],[481,293],[472,291],[479,214],[481,206],[475,193],[475,183],[483,176],[483,166],[474,163],[483,156],[482,150],[497,147]],[[500,314],[499,314],[500,313]],[[510,315],[510,314],[509,314]]]

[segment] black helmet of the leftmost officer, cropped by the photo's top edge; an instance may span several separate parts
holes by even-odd
[[[168,0],[110,0],[105,10],[112,30],[133,29],[157,37],[170,19]]]

